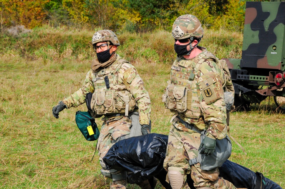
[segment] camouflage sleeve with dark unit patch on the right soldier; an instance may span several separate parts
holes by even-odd
[[[197,73],[198,96],[207,132],[216,139],[227,134],[226,109],[222,84],[223,71],[214,61],[205,61]]]

